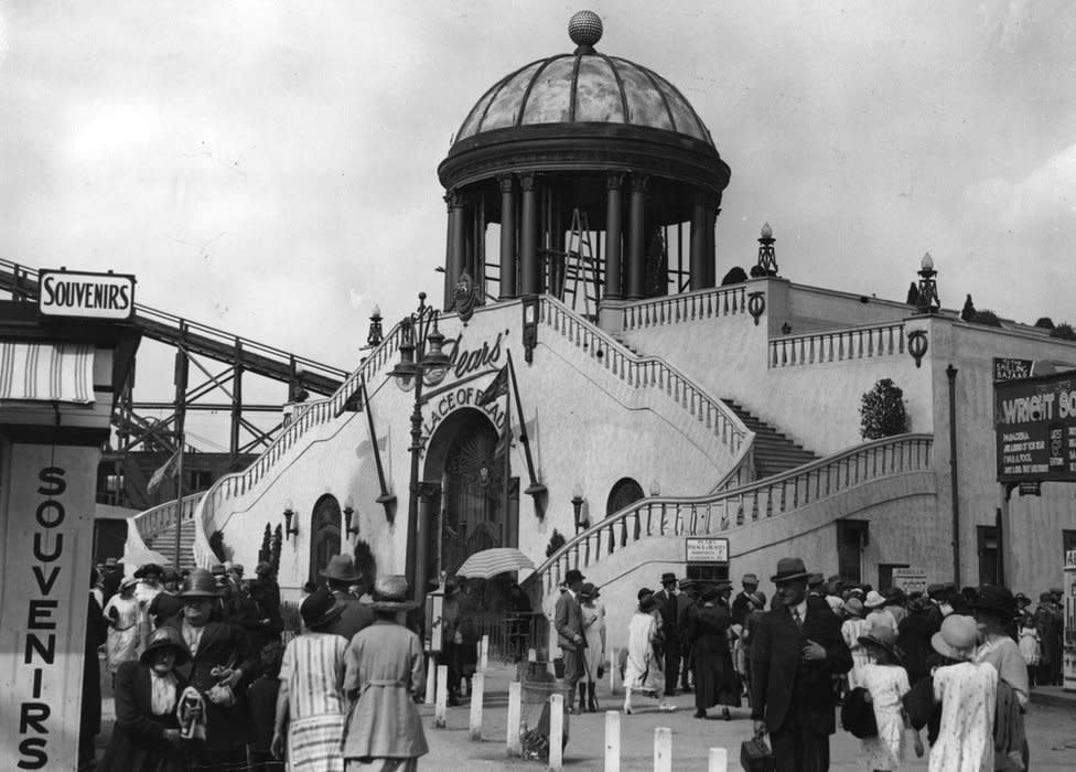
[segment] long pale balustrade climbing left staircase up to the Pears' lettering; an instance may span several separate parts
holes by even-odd
[[[216,558],[209,548],[208,534],[217,529],[216,513],[222,505],[235,497],[251,491],[258,482],[272,471],[277,463],[284,458],[298,443],[306,431],[324,426],[344,411],[344,406],[356,392],[365,377],[366,382],[396,356],[400,344],[400,325],[394,326],[380,345],[374,349],[354,373],[347,376],[343,385],[333,396],[308,403],[297,409],[291,422],[277,435],[277,438],[259,455],[254,463],[241,472],[228,474],[217,480],[198,502],[194,516],[194,561],[198,566],[207,567]],[[366,409],[366,406],[363,406]]]

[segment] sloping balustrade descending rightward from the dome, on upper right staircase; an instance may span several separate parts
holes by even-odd
[[[728,405],[711,398],[693,380],[663,360],[633,354],[612,335],[549,296],[541,298],[540,321],[588,352],[592,360],[613,375],[620,376],[628,386],[664,392],[703,423],[733,457],[746,453],[750,449],[754,432],[744,426],[740,417]]]

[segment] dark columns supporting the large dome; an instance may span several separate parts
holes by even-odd
[[[501,211],[498,300],[548,290],[542,249],[563,249],[566,227],[558,204],[568,202],[555,201],[559,193],[552,185],[544,184],[546,179],[536,173],[499,174],[496,178],[494,195],[499,195]],[[556,181],[556,178],[548,179]],[[648,218],[648,182],[649,178],[634,173],[604,175],[602,296],[605,299],[639,300],[645,297],[648,226],[658,225]],[[477,185],[453,189],[444,196],[449,214],[445,308],[451,308],[453,289],[464,271],[480,292],[485,289],[487,196],[488,193]],[[714,226],[720,212],[720,195],[697,189],[690,193],[690,199],[689,288],[697,290],[717,283]]]

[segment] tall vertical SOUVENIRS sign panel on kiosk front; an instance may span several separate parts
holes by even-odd
[[[0,523],[4,769],[77,766],[96,448],[12,444]]]

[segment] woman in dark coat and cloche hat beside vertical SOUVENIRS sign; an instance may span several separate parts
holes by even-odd
[[[154,631],[137,661],[116,672],[116,726],[101,772],[183,772],[187,769],[175,707],[186,687],[176,669],[191,658],[172,628]]]

